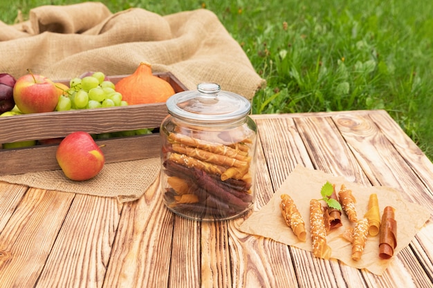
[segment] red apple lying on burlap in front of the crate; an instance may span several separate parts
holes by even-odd
[[[89,133],[78,131],[67,135],[55,155],[64,175],[71,180],[89,180],[102,170],[105,157]]]

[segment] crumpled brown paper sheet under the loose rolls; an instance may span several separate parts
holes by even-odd
[[[368,269],[371,273],[381,275],[393,261],[401,249],[407,247],[416,233],[423,227],[425,222],[430,218],[430,212],[418,204],[407,202],[395,189],[385,186],[364,187],[354,184],[344,179],[344,177],[335,177],[324,173],[323,171],[313,171],[303,166],[297,166],[293,172],[288,175],[282,186],[277,190],[273,198],[260,211],[255,211],[250,217],[241,224],[239,229],[245,233],[255,234],[272,238],[275,241],[291,245],[306,251],[311,249],[311,235],[309,223],[309,202],[311,199],[320,199],[322,195],[320,190],[326,181],[336,184],[337,191],[341,184],[351,189],[356,198],[356,209],[358,219],[362,218],[367,212],[369,195],[376,193],[380,207],[380,215],[386,206],[396,209],[395,217],[397,221],[397,247],[394,250],[394,256],[389,260],[381,260],[378,257],[379,236],[367,238],[362,258],[359,261],[351,260],[351,243],[344,240],[340,235],[354,224],[349,222],[347,216],[342,214],[343,226],[331,230],[327,235],[327,242],[332,249],[331,258],[341,260],[345,264],[358,269]],[[293,198],[297,205],[304,222],[306,224],[307,240],[300,242],[293,231],[288,227],[282,217],[279,209],[281,202],[280,196],[287,193]],[[324,204],[324,202],[323,202]]]

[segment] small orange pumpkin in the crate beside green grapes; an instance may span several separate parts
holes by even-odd
[[[116,91],[129,105],[165,102],[174,95],[173,87],[164,79],[152,75],[151,65],[141,62],[136,71],[118,81]]]

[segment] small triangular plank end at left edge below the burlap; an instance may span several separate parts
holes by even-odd
[[[14,213],[28,186],[0,181],[0,233]]]

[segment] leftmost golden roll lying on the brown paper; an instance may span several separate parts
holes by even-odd
[[[291,227],[293,233],[297,236],[300,241],[305,242],[306,240],[306,231],[305,231],[305,222],[302,219],[302,215],[300,211],[297,210],[296,204],[293,202],[293,199],[287,195],[281,195],[281,203],[279,204],[279,208],[282,211],[282,215],[288,227]]]

